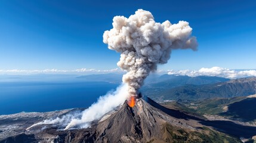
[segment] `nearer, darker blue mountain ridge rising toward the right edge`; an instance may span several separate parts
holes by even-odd
[[[256,94],[256,77],[233,79],[208,85],[184,85],[174,88],[155,89],[158,97],[149,94],[150,98],[162,100],[202,100],[212,97],[244,97]],[[150,92],[150,91],[148,91]],[[147,93],[148,93],[147,92]]]

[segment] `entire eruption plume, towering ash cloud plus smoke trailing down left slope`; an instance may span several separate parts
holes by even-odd
[[[104,32],[103,42],[108,44],[109,49],[121,53],[118,66],[127,71],[122,79],[123,84],[115,92],[99,98],[82,113],[64,116],[64,119],[45,120],[37,125],[58,124],[65,120],[65,129],[87,128],[92,121],[100,119],[131,96],[138,97],[137,91],[144,79],[157,69],[158,64],[167,63],[172,49],[195,51],[198,43],[191,34],[192,28],[186,21],[177,24],[171,24],[168,20],[156,23],[149,11],[137,10],[129,18],[114,17],[113,29]],[[69,123],[66,124],[66,120]]]

